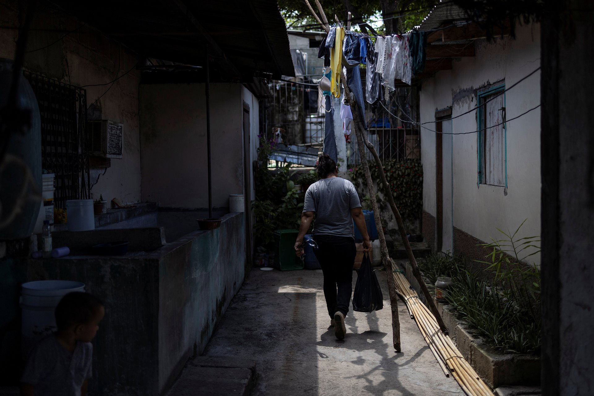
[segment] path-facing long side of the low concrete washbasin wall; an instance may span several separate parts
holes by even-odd
[[[201,354],[244,281],[241,213],[219,229],[172,243],[159,264],[159,391],[173,384],[188,357]]]

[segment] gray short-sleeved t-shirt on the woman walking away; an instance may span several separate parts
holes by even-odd
[[[315,212],[314,235],[352,237],[350,210],[361,207],[355,186],[343,178],[320,179],[305,192],[304,212]]]

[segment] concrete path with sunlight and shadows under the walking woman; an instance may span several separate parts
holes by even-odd
[[[203,355],[255,360],[252,396],[463,395],[401,302],[403,351],[391,347],[387,282],[385,273],[377,274],[384,309],[350,311],[346,338],[338,341],[329,327],[321,270],[254,269]],[[353,273],[353,290],[356,278]]]

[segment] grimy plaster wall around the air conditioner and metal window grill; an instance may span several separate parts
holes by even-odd
[[[0,0],[0,24],[18,28],[18,2]],[[64,36],[68,31],[72,33]],[[14,59],[17,32],[15,28],[0,29],[0,58]],[[62,36],[62,40],[50,45]],[[138,61],[138,56],[126,47],[83,26],[80,20],[56,11],[49,3],[37,5],[27,51],[33,52],[25,55],[25,69],[77,86],[109,83]],[[111,87],[85,88],[87,107],[105,93],[95,108],[91,108],[94,111],[89,112],[89,119],[110,119],[124,124],[123,158],[112,159],[107,169],[91,171],[91,192],[97,198],[102,194],[105,199],[119,198],[124,203],[140,201],[139,83],[140,72],[132,70]]]

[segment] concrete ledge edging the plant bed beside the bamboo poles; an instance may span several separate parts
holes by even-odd
[[[412,275],[409,262],[400,261],[398,264],[405,268],[406,278],[419,296],[421,296],[419,284]],[[470,334],[465,322],[459,321],[450,312],[447,304],[437,303],[437,307],[450,338],[456,343],[462,356],[490,387],[540,384],[540,356],[501,353],[494,350],[481,337]]]

